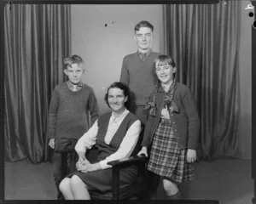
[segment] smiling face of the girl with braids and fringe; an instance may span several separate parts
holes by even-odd
[[[173,79],[173,74],[176,72],[176,67],[172,67],[167,62],[162,63],[157,61],[155,64],[155,73],[160,82],[170,84]]]

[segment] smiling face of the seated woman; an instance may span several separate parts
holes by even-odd
[[[124,91],[119,88],[109,88],[108,90],[108,105],[112,111],[120,113],[125,110],[125,102],[128,97],[125,97]]]

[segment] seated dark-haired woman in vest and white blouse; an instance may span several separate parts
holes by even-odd
[[[77,172],[67,175],[59,186],[66,200],[90,200],[90,190],[107,192],[112,190],[112,170],[107,163],[134,155],[141,122],[126,109],[129,104],[129,88],[114,82],[108,88],[105,101],[112,112],[99,117],[84,133],[75,146],[79,155]],[[94,144],[98,148],[96,163],[90,163],[85,151]],[[121,185],[132,184],[137,178],[137,167],[120,171]]]

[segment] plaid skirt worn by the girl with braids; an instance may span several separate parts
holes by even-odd
[[[195,179],[194,167],[186,161],[186,149],[179,150],[172,122],[161,119],[154,133],[148,161],[148,171],[171,179],[175,183]]]

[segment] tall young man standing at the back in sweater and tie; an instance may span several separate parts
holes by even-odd
[[[134,28],[137,52],[125,56],[120,76],[120,82],[124,82],[131,89],[130,111],[139,117],[143,125],[147,120],[144,105],[156,83],[154,59],[160,55],[152,50],[153,31],[154,26],[148,21],[137,23]]]

